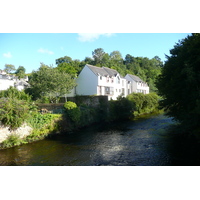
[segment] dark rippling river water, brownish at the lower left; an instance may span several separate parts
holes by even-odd
[[[3,166],[191,166],[200,164],[198,144],[175,137],[174,121],[148,115],[95,125],[0,150]],[[178,139],[177,139],[178,138]]]

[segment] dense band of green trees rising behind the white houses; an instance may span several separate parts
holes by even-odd
[[[113,51],[108,54],[102,48],[95,49],[92,52],[92,58],[86,57],[83,61],[80,61],[64,56],[56,59],[56,64],[57,69],[69,73],[73,77],[76,77],[86,64],[116,69],[122,76],[134,74],[149,84],[151,92],[157,91],[155,81],[163,66],[158,56],[149,59],[127,54],[123,59],[119,51]]]

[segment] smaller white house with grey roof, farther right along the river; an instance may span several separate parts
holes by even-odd
[[[127,74],[125,76],[125,79],[127,81],[130,81],[131,83],[129,91],[130,93],[135,92],[135,93],[149,94],[149,86],[138,76]]]

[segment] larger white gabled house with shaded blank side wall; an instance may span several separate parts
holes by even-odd
[[[119,95],[127,95],[127,81],[116,70],[107,67],[85,65],[77,80],[75,94],[106,95],[116,100]]]

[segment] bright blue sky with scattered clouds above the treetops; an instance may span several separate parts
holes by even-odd
[[[165,54],[189,33],[0,33],[0,69],[5,64],[24,66],[26,72],[37,70],[40,62],[53,64],[55,59],[69,56],[83,60],[92,51],[103,48],[106,53],[118,50],[123,58],[153,58],[165,61]]]

